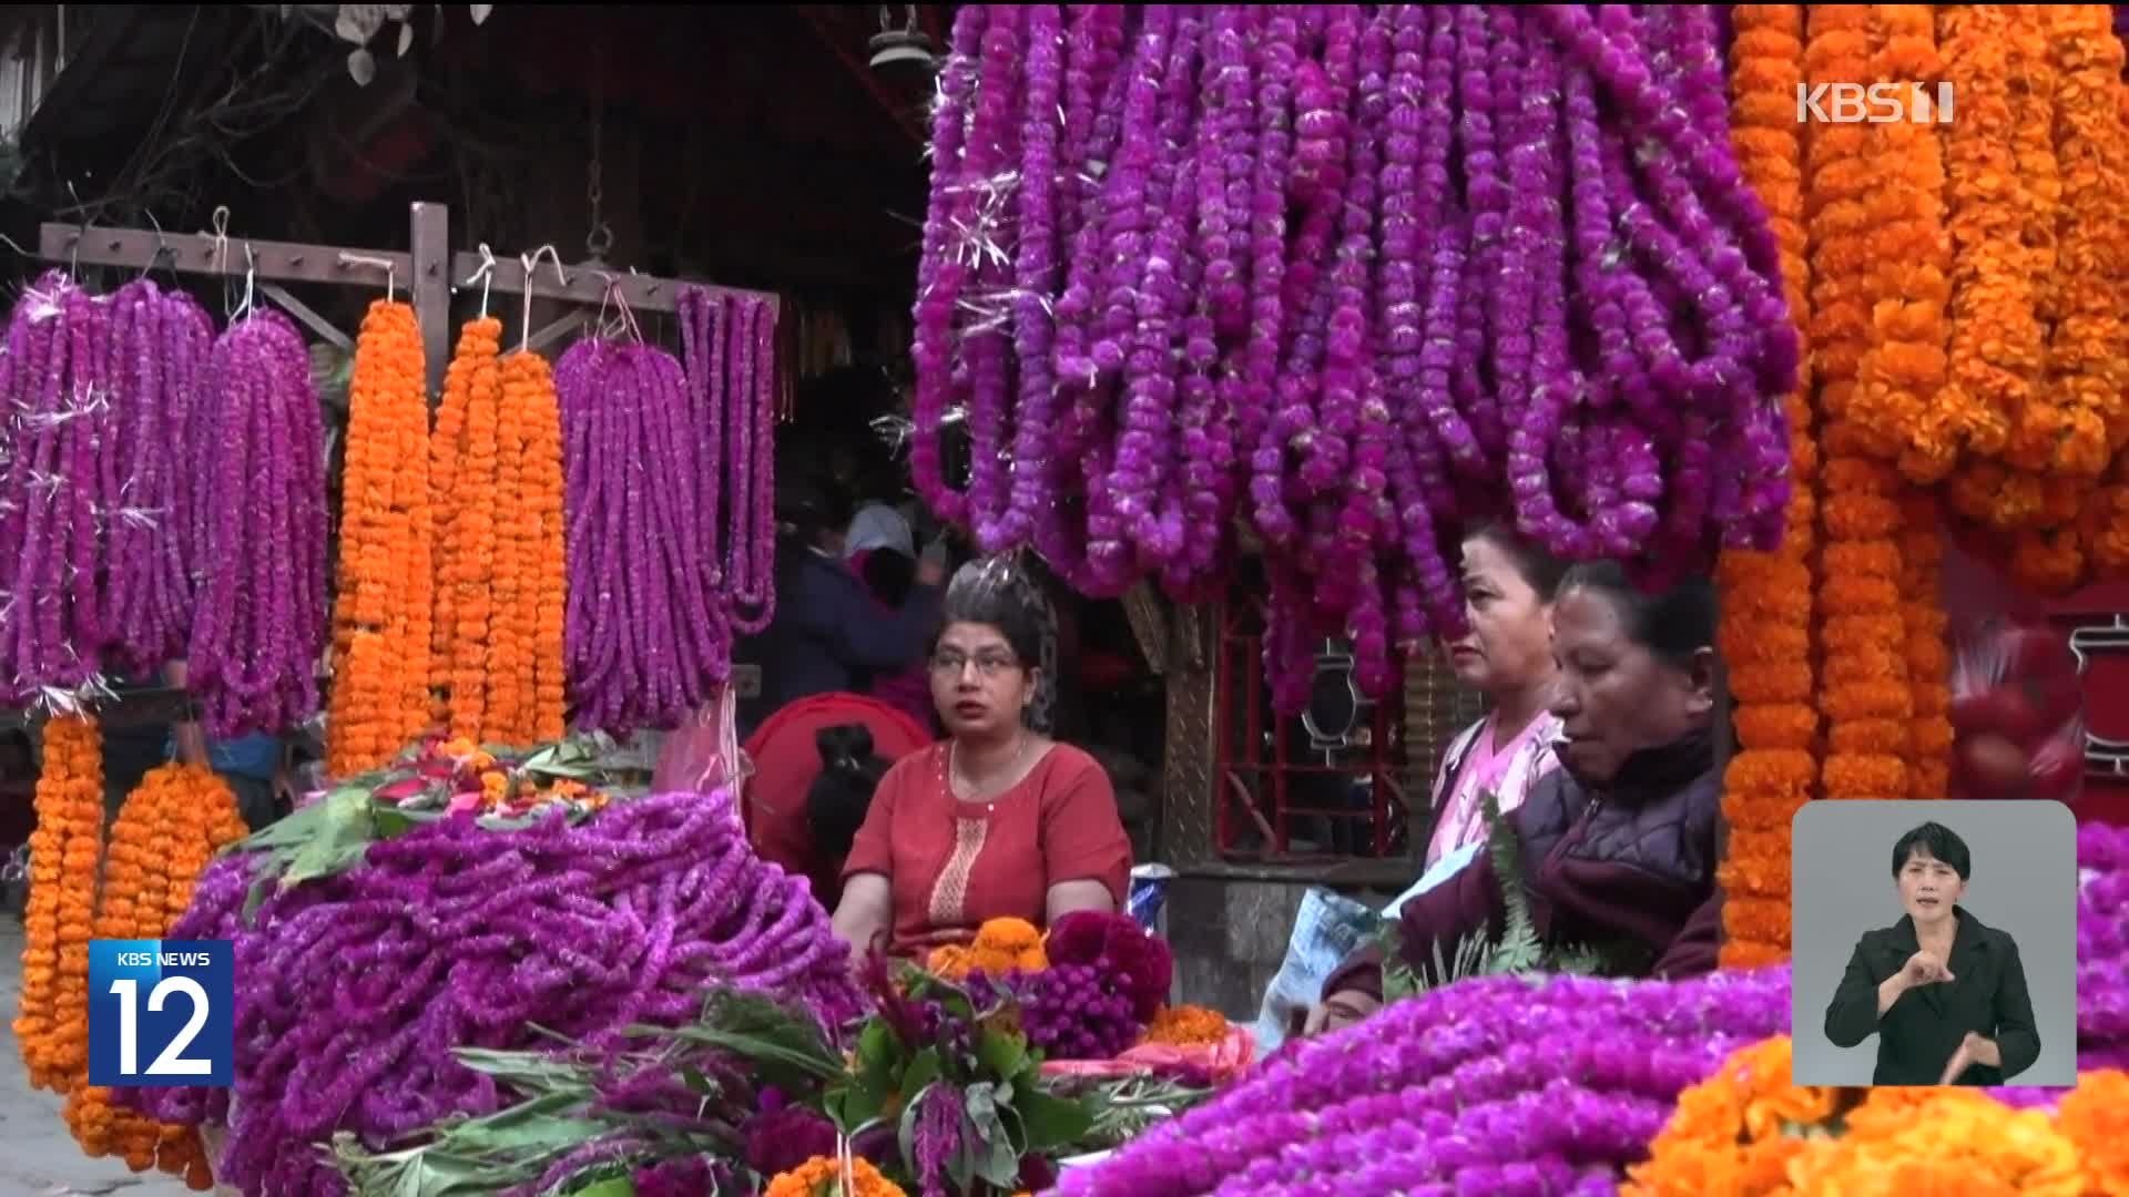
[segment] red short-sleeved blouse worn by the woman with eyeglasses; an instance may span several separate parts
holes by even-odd
[[[1060,882],[1101,882],[1124,909],[1130,837],[1109,775],[1092,756],[1058,743],[988,803],[956,799],[945,769],[945,743],[890,769],[843,865],[843,878],[888,878],[894,954],[973,939],[992,918],[1041,927],[1050,886]],[[956,884],[962,878],[964,886]]]

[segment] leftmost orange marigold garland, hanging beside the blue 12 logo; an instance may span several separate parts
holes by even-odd
[[[53,1093],[64,1093],[89,1061],[89,937],[102,843],[102,733],[89,720],[60,716],[45,724],[36,780],[21,1003],[13,1024],[30,1084]]]

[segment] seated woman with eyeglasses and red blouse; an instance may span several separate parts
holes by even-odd
[[[1041,667],[1037,611],[1018,567],[971,562],[947,586],[930,692],[947,739],[898,760],[843,865],[835,931],[862,958],[964,944],[992,918],[1037,927],[1118,912],[1130,839],[1109,775],[1028,728]]]

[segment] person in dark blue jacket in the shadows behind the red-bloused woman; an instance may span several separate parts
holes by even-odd
[[[826,479],[777,483],[777,609],[769,628],[735,654],[762,671],[760,694],[741,703],[741,737],[798,699],[864,692],[875,673],[896,673],[928,647],[945,543],[924,550],[907,601],[884,611],[843,560],[849,507]]]

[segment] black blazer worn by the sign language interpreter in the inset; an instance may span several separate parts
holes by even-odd
[[[1965,907],[1952,907],[1959,933],[1946,967],[1950,982],[1914,986],[1878,1018],[1878,986],[1920,950],[1914,918],[1882,931],[1865,931],[1848,958],[1848,973],[1827,1005],[1827,1039],[1854,1048],[1878,1035],[1878,1071],[1871,1084],[1937,1084],[1969,1031],[1995,1039],[2003,1067],[1974,1065],[1957,1084],[2003,1084],[2040,1059],[2033,999],[2025,990],[2025,965],[2010,935],[1982,924]]]

